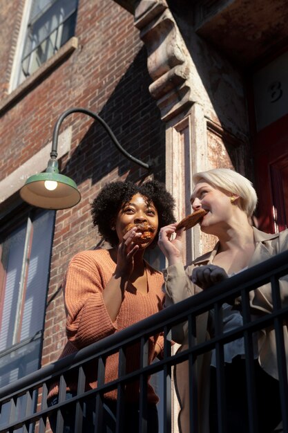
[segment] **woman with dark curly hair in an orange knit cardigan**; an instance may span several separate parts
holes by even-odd
[[[111,249],[79,252],[68,265],[64,280],[66,307],[66,333],[68,342],[61,358],[75,353],[82,347],[121,331],[163,308],[164,282],[162,273],[153,269],[145,260],[146,248],[157,244],[161,227],[175,222],[174,199],[158,181],[142,185],[132,182],[106,184],[92,203],[93,224]],[[160,356],[163,349],[162,335],[149,338],[148,362]],[[126,353],[126,373],[139,368],[140,344]],[[117,378],[117,353],[106,360],[105,382]],[[75,395],[77,383],[68,384],[70,395]],[[88,377],[88,389],[97,386],[96,372]],[[50,389],[48,404],[58,401],[58,385]],[[116,430],[117,391],[104,395],[104,423],[102,432]],[[93,399],[92,399],[93,400]],[[137,432],[139,425],[139,383],[128,383],[125,389],[126,411],[124,431]],[[158,432],[156,403],[158,397],[150,383],[147,384],[147,422],[149,433]],[[93,409],[95,402],[86,402],[84,430],[94,432]],[[64,430],[74,433],[74,417],[64,414]],[[55,431],[53,419],[50,419]],[[101,432],[101,433],[102,433]],[[99,432],[100,433],[100,432]]]

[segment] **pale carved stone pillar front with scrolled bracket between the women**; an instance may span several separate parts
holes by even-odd
[[[175,197],[179,221],[191,213],[193,172],[208,168],[206,120],[200,104],[204,89],[166,1],[139,1],[135,26],[148,52],[153,80],[149,91],[166,125],[166,185]],[[184,262],[200,252],[199,229],[189,230]]]

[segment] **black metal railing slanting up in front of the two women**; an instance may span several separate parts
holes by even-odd
[[[252,335],[260,329],[265,329],[273,326],[276,333],[276,347],[278,355],[278,374],[281,380],[280,385],[280,401],[282,409],[282,424],[283,432],[288,433],[288,384],[287,384],[287,365],[285,355],[285,345],[283,338],[282,325],[287,324],[288,314],[288,294],[282,293],[282,288],[279,284],[279,279],[284,275],[288,275],[288,252],[282,252],[280,255],[273,257],[262,264],[258,264],[253,268],[249,268],[242,273],[235,275],[221,284],[217,284],[203,291],[198,295],[190,297],[187,300],[179,302],[169,308],[160,311],[146,320],[142,320],[125,329],[111,335],[89,347],[81,349],[75,355],[68,356],[51,365],[35,371],[15,383],[2,387],[0,389],[0,404],[2,408],[9,409],[7,421],[4,424],[3,416],[0,418],[0,433],[15,432],[17,429],[23,432],[39,432],[48,431],[49,423],[47,418],[49,415],[57,414],[57,433],[63,431],[63,418],[61,413],[65,407],[73,406],[73,414],[75,414],[75,423],[77,428],[75,431],[81,433],[82,422],[82,407],[84,401],[89,398],[95,400],[95,432],[97,427],[102,423],[103,413],[103,395],[107,391],[117,389],[117,433],[123,432],[123,405],[124,405],[124,388],[127,383],[135,380],[140,384],[140,432],[146,432],[145,409],[146,409],[146,377],[159,374],[160,382],[162,383],[161,411],[160,411],[160,433],[171,432],[171,373],[173,366],[189,360],[189,371],[193,371],[193,362],[202,353],[215,349],[216,354],[216,371],[218,377],[218,414],[220,417],[220,425],[224,425],[225,408],[223,399],[221,398],[222,390],[222,369],[223,362],[223,347],[227,342],[244,338],[245,358],[247,368],[247,399],[249,403],[249,429],[250,433],[258,432],[256,423],[253,422],[253,408],[256,405],[255,393],[253,389],[253,350],[251,350]],[[257,318],[251,320],[251,311],[249,308],[249,291],[253,291],[263,284],[270,282],[273,297],[273,311],[263,313]],[[287,289],[286,289],[287,290]],[[241,296],[242,299],[242,317],[243,324],[227,333],[222,332],[222,316],[221,306],[224,302],[231,301],[232,298]],[[282,298],[281,298],[282,297]],[[283,302],[283,298],[284,302]],[[282,301],[281,301],[282,299]],[[195,344],[193,335],[195,334],[196,320],[195,318],[213,309],[215,313],[215,335],[211,340]],[[189,345],[187,349],[175,354],[171,353],[171,328],[175,324],[187,322],[189,332]],[[153,364],[147,364],[148,338],[155,333],[164,333],[164,353],[163,357]],[[126,350],[136,342],[141,345],[141,359],[139,369],[126,374],[125,359]],[[119,371],[118,378],[113,382],[105,383],[105,360],[112,353],[118,353],[119,356]],[[95,363],[97,368],[97,388],[85,391],[86,367],[91,362]],[[97,366],[97,367],[96,367]],[[66,379],[73,374],[77,380],[77,394],[66,400]],[[51,381],[59,382],[59,401],[55,406],[47,406],[48,386]],[[187,378],[188,380],[188,378]],[[190,389],[190,414],[191,420],[197,419],[197,402],[195,390],[193,389],[192,380],[189,381]],[[4,411],[2,411],[3,413]],[[100,431],[100,430],[99,430]],[[223,433],[225,427],[220,429]],[[197,425],[195,422],[190,423],[190,432],[196,433]],[[189,433],[189,432],[185,432]]]

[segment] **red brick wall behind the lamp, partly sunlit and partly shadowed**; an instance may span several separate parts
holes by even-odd
[[[16,10],[21,2],[4,3],[3,26],[8,26],[7,31],[19,28],[21,13]],[[2,27],[0,36],[3,31]],[[2,39],[6,44],[0,48],[2,100],[15,49],[15,35],[11,30],[8,33],[9,37]],[[152,176],[155,173],[164,181],[164,125],[148,93],[151,80],[146,49],[133,26],[133,15],[112,0],[79,0],[76,36],[79,48],[0,114],[0,179],[50,142],[52,129],[63,111],[84,107],[106,120],[129,153],[145,162],[152,158]],[[72,147],[61,160],[61,172],[75,180],[82,199],[75,208],[57,211],[42,365],[56,360],[64,346],[61,282],[68,261],[75,252],[93,248],[100,240],[92,228],[90,202],[108,181],[140,181],[147,176],[144,169],[119,154],[93,119],[73,114],[64,120],[61,130],[68,125],[73,127]]]

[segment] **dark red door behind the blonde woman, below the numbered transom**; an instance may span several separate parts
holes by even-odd
[[[280,232],[288,226],[288,115],[259,131],[253,150],[258,227]]]

